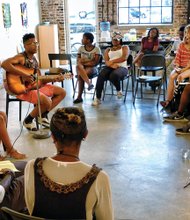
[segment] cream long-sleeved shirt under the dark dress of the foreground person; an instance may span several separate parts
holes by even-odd
[[[35,201],[34,190],[34,161],[27,163],[25,168],[25,201],[29,213],[32,214]],[[69,184],[76,182],[90,171],[91,165],[84,162],[60,162],[47,158],[43,162],[45,175],[52,181],[59,184]],[[63,174],[63,175],[60,175]],[[96,180],[92,184],[86,198],[86,219],[92,219],[93,210],[97,220],[113,220],[113,208],[111,189],[108,175],[100,171]]]

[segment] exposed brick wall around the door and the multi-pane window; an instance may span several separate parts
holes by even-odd
[[[76,0],[77,1],[77,0]],[[41,19],[42,22],[49,21],[53,24],[58,24],[59,27],[59,50],[60,52],[67,51],[66,48],[66,35],[65,18],[66,11],[64,8],[63,0],[41,0]],[[170,33],[177,35],[180,25],[187,23],[187,9],[188,0],[174,0],[174,23],[169,26],[157,26],[160,33]],[[97,0],[98,10],[98,24],[102,20],[109,20],[111,22],[111,31],[121,31],[126,33],[131,26],[118,27],[117,26],[117,0]],[[133,26],[137,30],[137,35],[142,36],[145,34],[146,28],[149,26]],[[98,33],[99,25],[97,27]]]

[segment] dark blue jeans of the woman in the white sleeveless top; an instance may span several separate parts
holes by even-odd
[[[128,74],[128,69],[125,67],[119,67],[113,69],[111,67],[105,66],[98,75],[96,83],[96,97],[101,99],[102,90],[104,88],[104,82],[110,80],[110,82],[115,86],[117,91],[121,90],[120,81]]]

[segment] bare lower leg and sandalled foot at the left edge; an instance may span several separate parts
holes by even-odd
[[[0,112],[0,143],[3,142],[7,156],[10,156],[14,159],[26,158],[25,154],[22,154],[13,148],[13,145],[11,144],[11,140],[7,132],[6,125],[7,125],[7,116],[4,112]],[[0,156],[0,160],[3,159],[5,159],[5,157]]]

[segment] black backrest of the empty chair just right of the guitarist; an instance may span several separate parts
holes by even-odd
[[[53,61],[54,60],[65,60],[69,62],[69,68],[70,68],[70,72],[73,72],[72,69],[72,61],[71,61],[71,54],[64,54],[64,53],[49,53],[48,54],[48,58],[50,61],[50,67],[53,67]]]

